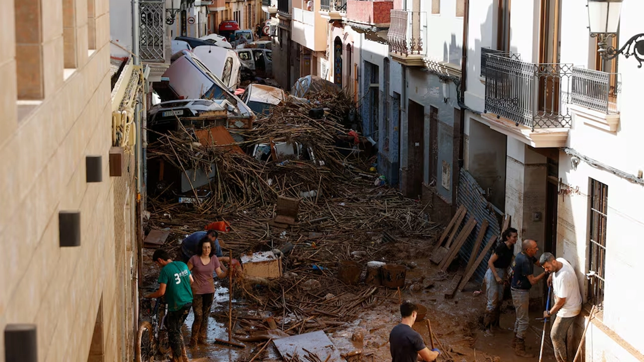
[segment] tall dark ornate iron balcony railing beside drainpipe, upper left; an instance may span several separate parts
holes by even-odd
[[[140,57],[144,62],[166,62],[166,1],[141,0]]]

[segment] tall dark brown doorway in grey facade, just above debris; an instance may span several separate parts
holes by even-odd
[[[422,196],[422,166],[425,164],[424,120],[425,108],[421,104],[409,100],[406,182],[406,196],[409,198],[420,199]]]

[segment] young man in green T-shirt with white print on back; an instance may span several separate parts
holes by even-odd
[[[172,361],[188,362],[181,325],[184,324],[185,317],[193,305],[193,290],[190,287],[193,276],[184,262],[173,262],[165,250],[156,249],[152,260],[162,268],[158,278],[159,289],[146,298],[166,296],[169,310],[166,328],[168,342],[172,348]]]

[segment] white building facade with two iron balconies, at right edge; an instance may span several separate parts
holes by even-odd
[[[642,12],[623,1],[608,45],[641,33]],[[584,318],[569,345],[596,305],[585,360],[642,361],[644,309],[627,283],[641,270],[630,245],[644,225],[644,71],[637,59],[603,59],[588,26],[585,1],[515,1],[511,12],[509,0],[469,2],[464,164],[520,237],[576,269]]]

